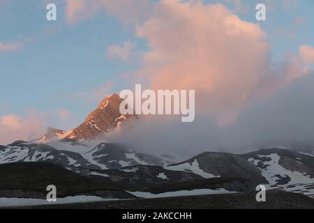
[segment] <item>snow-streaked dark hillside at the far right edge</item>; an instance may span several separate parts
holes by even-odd
[[[314,197],[314,157],[281,148],[244,155],[262,171],[269,189],[281,188]]]

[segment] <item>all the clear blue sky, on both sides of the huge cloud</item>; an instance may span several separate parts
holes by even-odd
[[[55,22],[45,19],[47,2],[57,4]],[[223,3],[242,20],[257,23],[254,1],[242,1],[244,11],[234,8],[232,1],[207,1],[212,2]],[[266,3],[267,21],[260,22],[267,33],[273,61],[297,54],[300,45],[314,46],[314,1],[291,2],[288,6],[283,6],[282,1]],[[98,104],[100,98],[88,95],[108,82],[112,87],[107,93],[130,87],[128,79],[122,77],[139,68],[137,56],[149,49],[146,41],[103,12],[68,24],[65,9],[66,3],[61,0],[0,1],[0,43],[22,42],[17,51],[0,52],[1,115],[24,116],[30,109],[66,109],[73,114],[73,121],[61,128],[69,128],[68,125],[80,123]],[[138,52],[130,61],[107,55],[111,45],[125,41],[134,43],[133,51]]]

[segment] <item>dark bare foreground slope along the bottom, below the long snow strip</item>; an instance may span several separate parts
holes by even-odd
[[[159,199],[130,199],[45,206],[24,206],[26,209],[314,209],[314,199],[304,194],[271,190],[266,202],[257,202],[255,192],[215,194]]]

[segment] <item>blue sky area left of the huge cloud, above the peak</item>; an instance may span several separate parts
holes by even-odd
[[[62,5],[57,22],[45,20],[45,6],[38,1],[6,1],[1,8],[1,41],[29,41],[18,52],[0,54],[0,104],[8,105],[6,113],[63,108],[82,119],[98,102],[71,95],[96,90],[113,78],[119,82],[119,75],[135,68],[106,56],[110,45],[133,39],[117,20],[97,16],[70,26]]]

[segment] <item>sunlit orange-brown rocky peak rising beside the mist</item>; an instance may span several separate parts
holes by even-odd
[[[117,94],[108,96],[87,116],[84,123],[73,129],[66,138],[94,140],[101,134],[120,128],[129,118],[137,118],[135,114],[122,115],[119,112],[122,101]]]

